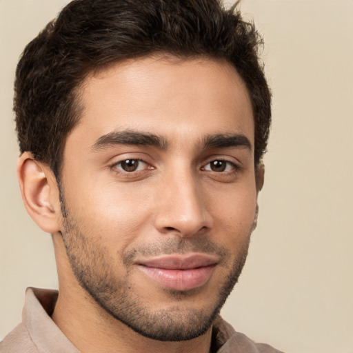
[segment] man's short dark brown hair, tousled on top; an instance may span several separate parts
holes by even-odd
[[[59,177],[65,138],[79,121],[77,88],[92,70],[151,54],[225,59],[250,93],[254,160],[268,143],[270,90],[259,61],[261,37],[220,0],[74,0],[23,51],[14,85],[21,152]]]

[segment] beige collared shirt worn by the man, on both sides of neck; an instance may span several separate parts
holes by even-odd
[[[28,288],[22,322],[0,343],[0,353],[79,353],[50,318],[57,296],[55,290]],[[221,317],[214,323],[212,347],[217,353],[283,353],[235,332]]]

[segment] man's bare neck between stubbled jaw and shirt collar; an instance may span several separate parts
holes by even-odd
[[[54,239],[55,242],[55,239]],[[59,244],[56,244],[59,245]],[[209,353],[212,327],[190,341],[157,341],[148,339],[103,310],[81,288],[70,270],[65,250],[56,250],[59,275],[59,297],[52,320],[81,353]]]

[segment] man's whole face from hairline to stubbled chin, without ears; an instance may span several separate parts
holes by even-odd
[[[86,79],[65,144],[61,228],[77,283],[134,331],[192,339],[243,268],[254,122],[223,61],[145,58]]]

